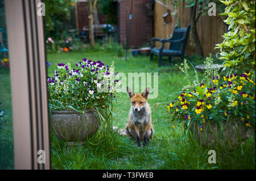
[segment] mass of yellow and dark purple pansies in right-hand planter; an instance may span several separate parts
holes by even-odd
[[[201,82],[200,86],[195,84],[194,90],[184,88],[186,92],[183,90],[174,102],[167,105],[168,112],[173,108],[178,119],[200,120],[203,124],[214,119],[212,117],[217,116],[219,119],[222,116],[228,119],[234,116],[234,111],[244,112],[244,105],[252,104],[255,99],[255,88],[251,89],[251,85],[255,86],[255,75],[250,78],[249,75],[249,72],[221,76],[222,78],[216,75],[211,83]],[[244,120],[247,127],[254,125],[250,120]]]

